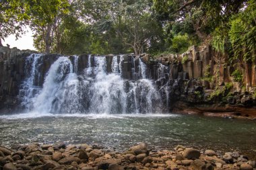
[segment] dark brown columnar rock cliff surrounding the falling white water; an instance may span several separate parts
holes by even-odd
[[[0,113],[19,110],[20,85],[26,78],[26,58],[36,52],[0,47]],[[43,54],[42,54],[43,55]],[[42,87],[44,78],[59,54],[46,54],[40,61]],[[68,56],[75,62],[75,56]],[[113,72],[114,55],[106,56],[106,72]],[[77,72],[95,65],[94,56],[78,57]],[[141,62],[143,61],[143,62]],[[152,79],[162,97],[163,110],[189,114],[256,116],[256,61],[230,63],[228,56],[210,48],[192,46],[183,54],[153,58],[149,54],[117,56],[123,79]]]

